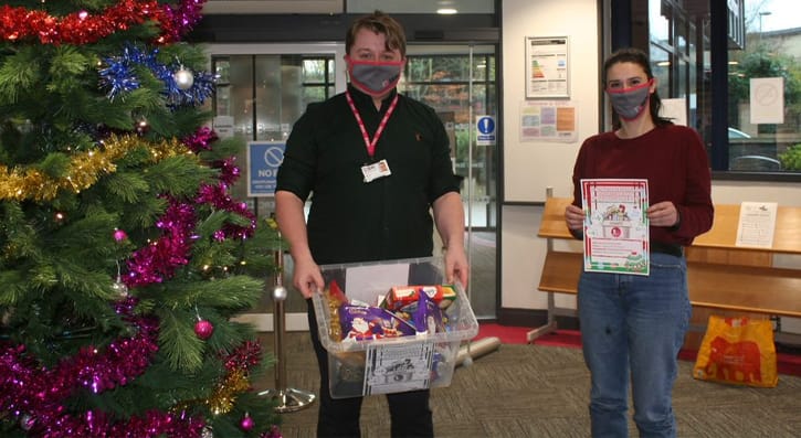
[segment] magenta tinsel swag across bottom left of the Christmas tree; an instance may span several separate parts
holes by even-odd
[[[4,348],[0,352],[0,412],[13,413],[29,434],[46,438],[200,437],[205,421],[183,414],[150,410],[145,417],[113,424],[101,412],[87,410],[75,416],[64,406],[64,400],[82,388],[94,394],[110,391],[126,385],[150,366],[158,351],[158,323],[134,317],[135,306],[136,298],[127,298],[116,310],[137,329],[136,334],[117,339],[105,352],[83,348],[52,370],[27,354],[24,345]]]

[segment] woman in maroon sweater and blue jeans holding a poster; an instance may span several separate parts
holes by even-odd
[[[628,436],[631,382],[640,435],[675,437],[672,392],[692,309],[683,247],[712,227],[709,165],[695,130],[658,116],[656,78],[643,52],[615,52],[603,73],[620,124],[581,146],[573,169],[573,203],[565,218],[571,233],[582,238],[582,179],[647,180],[651,266],[647,276],[581,275],[578,309],[592,380],[592,436]]]

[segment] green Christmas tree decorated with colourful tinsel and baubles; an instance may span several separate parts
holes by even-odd
[[[202,3],[0,7],[0,436],[280,435],[233,318],[280,243],[204,126]]]

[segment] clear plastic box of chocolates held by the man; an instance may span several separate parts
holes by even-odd
[[[329,391],[333,398],[371,394],[401,393],[451,384],[462,341],[478,334],[478,322],[461,285],[447,288],[455,292],[444,309],[436,309],[435,322],[423,330],[399,330],[391,336],[348,336],[341,321],[348,313],[369,314],[373,329],[391,322],[380,316],[382,297],[403,285],[440,286],[444,274],[441,258],[383,260],[362,264],[320,266],[326,290],[312,299],[319,339],[328,351]],[[429,297],[422,300],[425,306]],[[368,309],[349,309],[350,306]],[[372,307],[375,306],[375,308]],[[342,308],[348,309],[342,313]],[[431,314],[431,313],[425,313]],[[441,318],[440,318],[441,314]],[[428,318],[431,321],[431,318]],[[380,321],[380,322],[379,322]],[[345,322],[345,325],[342,324]],[[349,325],[350,324],[350,325]],[[420,324],[422,325],[422,324]],[[376,333],[373,330],[372,333]]]

